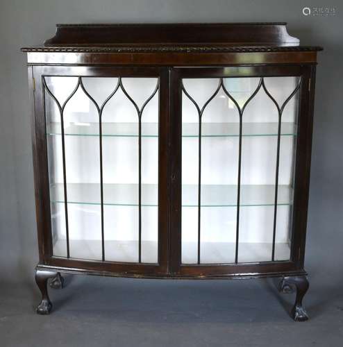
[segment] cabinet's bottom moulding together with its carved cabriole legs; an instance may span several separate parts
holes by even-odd
[[[238,273],[235,275],[215,275],[215,276],[178,276],[177,274],[161,274],[153,276],[145,276],[135,273],[111,273],[108,271],[94,271],[87,269],[60,268],[38,264],[36,266],[35,280],[42,294],[42,300],[37,306],[37,314],[50,314],[52,303],[48,294],[49,287],[53,289],[62,289],[64,287],[64,278],[61,273],[75,275],[91,275],[91,276],[108,276],[122,278],[149,278],[164,280],[234,280],[234,279],[257,279],[257,278],[281,278],[278,290],[283,294],[292,294],[296,292],[294,306],[290,311],[290,316],[294,321],[307,321],[308,314],[303,307],[303,297],[308,291],[309,283],[306,278],[306,271],[290,271],[287,273]]]

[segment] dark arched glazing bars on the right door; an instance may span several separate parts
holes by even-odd
[[[280,166],[280,144],[281,144],[281,120],[283,115],[283,110],[289,101],[293,98],[293,96],[299,91],[301,86],[301,77],[292,91],[292,93],[287,96],[287,99],[280,106],[277,101],[271,95],[271,93],[267,90],[265,85],[265,79],[263,77],[260,78],[256,89],[253,91],[251,96],[245,101],[242,107],[235,100],[235,98],[231,95],[230,92],[225,87],[224,78],[219,78],[219,84],[215,90],[215,92],[210,96],[210,98],[204,103],[203,107],[200,108],[196,101],[190,96],[190,94],[185,89],[185,85],[181,85],[181,89],[185,96],[192,102],[192,104],[196,108],[196,112],[198,113],[199,119],[199,133],[198,133],[198,235],[197,235],[197,264],[201,264],[201,120],[204,110],[212,101],[215,96],[222,89],[226,96],[234,103],[235,108],[237,108],[238,116],[239,116],[239,139],[238,139],[238,172],[237,172],[237,214],[236,214],[236,236],[235,236],[235,264],[238,263],[238,251],[239,251],[239,239],[240,239],[240,191],[241,191],[241,172],[242,172],[242,124],[243,124],[243,114],[246,106],[253,100],[253,98],[258,94],[261,90],[264,90],[269,99],[271,99],[272,103],[277,108],[278,112],[278,133],[277,133],[277,148],[276,148],[276,170],[275,170],[275,195],[274,195],[274,222],[273,222],[273,241],[272,241],[272,251],[271,251],[271,261],[275,260],[275,242],[276,242],[276,217],[277,217],[277,205],[278,205],[278,176],[279,176],[279,166]]]

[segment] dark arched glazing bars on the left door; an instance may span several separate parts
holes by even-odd
[[[153,96],[156,95],[159,88],[159,81],[156,84],[155,89],[151,93],[151,95],[144,101],[142,107],[139,108],[134,99],[128,94],[126,91],[122,77],[118,77],[117,84],[115,85],[114,90],[108,95],[108,97],[103,101],[101,105],[94,100],[94,98],[87,92],[85,85],[83,84],[82,77],[78,76],[78,80],[76,86],[72,93],[67,97],[64,103],[60,103],[56,96],[53,95],[53,92],[49,89],[45,78],[43,77],[43,92],[47,91],[47,93],[51,96],[53,101],[56,103],[59,113],[60,113],[60,126],[61,126],[61,137],[62,137],[62,172],[63,172],[63,189],[64,189],[64,199],[65,199],[65,226],[66,226],[66,241],[67,241],[67,258],[70,257],[69,251],[69,223],[68,223],[68,201],[67,201],[67,168],[66,168],[66,160],[65,160],[65,126],[64,126],[64,110],[70,99],[77,92],[78,88],[81,87],[81,90],[85,93],[88,99],[92,101],[95,108],[97,109],[97,114],[99,116],[99,166],[100,166],[100,202],[101,202],[101,250],[102,250],[102,261],[105,261],[105,241],[104,241],[104,219],[103,219],[103,144],[102,144],[102,115],[103,109],[106,104],[113,96],[117,93],[119,89],[122,90],[126,98],[133,104],[138,118],[138,262],[142,262],[142,115],[144,109]],[[43,97],[45,101],[45,96]],[[45,107],[44,107],[45,109]]]

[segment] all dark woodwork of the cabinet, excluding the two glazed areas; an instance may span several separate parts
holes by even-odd
[[[231,279],[282,277],[296,289],[292,316],[307,319],[303,269],[310,178],[315,65],[319,46],[300,46],[285,23],[58,25],[44,46],[26,47],[32,103],[33,167],[42,292],[37,313],[48,314],[60,273],[132,278]],[[43,76],[159,78],[158,264],[78,260],[53,255]],[[300,76],[299,124],[294,162],[290,261],[181,264],[181,79]]]

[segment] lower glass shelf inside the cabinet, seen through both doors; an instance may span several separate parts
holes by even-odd
[[[197,207],[197,185],[183,185],[183,207]],[[63,203],[62,183],[51,185],[51,202]],[[241,206],[274,205],[274,185],[241,185]],[[95,183],[67,184],[68,203],[99,205],[100,185]],[[288,185],[278,186],[278,205],[292,203],[293,190]],[[158,185],[142,185],[142,206],[158,205]],[[104,205],[138,205],[138,185],[135,184],[104,184]],[[202,207],[234,207],[237,205],[237,185],[201,185]]]

